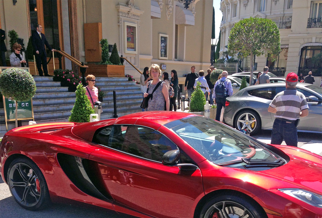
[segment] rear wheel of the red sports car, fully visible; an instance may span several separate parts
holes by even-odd
[[[37,210],[50,201],[45,177],[32,160],[15,159],[9,166],[7,178],[12,196],[25,209]]]

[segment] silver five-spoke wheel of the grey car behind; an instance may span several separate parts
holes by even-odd
[[[262,128],[262,122],[256,112],[246,110],[237,114],[235,128],[237,130],[247,129],[250,135],[254,135]]]

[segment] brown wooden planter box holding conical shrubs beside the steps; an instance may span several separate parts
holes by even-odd
[[[124,65],[89,64],[86,75],[92,74],[95,77],[125,77],[124,69]]]

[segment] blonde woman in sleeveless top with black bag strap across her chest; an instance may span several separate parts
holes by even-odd
[[[160,67],[157,64],[152,64],[149,68],[149,76],[152,81],[148,84],[148,91],[144,93],[144,97],[148,98],[147,111],[169,111],[169,89],[164,81],[160,80]],[[153,94],[152,94],[153,92]]]

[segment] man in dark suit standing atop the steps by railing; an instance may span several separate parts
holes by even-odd
[[[50,76],[47,70],[47,53],[46,53],[45,44],[49,50],[54,51],[55,49],[52,49],[45,35],[42,33],[42,30],[43,30],[42,25],[38,24],[36,29],[37,31],[34,31],[31,35],[31,42],[33,46],[33,54],[36,59],[39,76],[44,76],[42,65],[43,65],[45,76]]]

